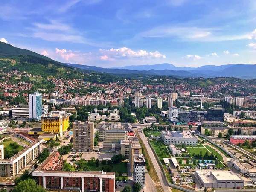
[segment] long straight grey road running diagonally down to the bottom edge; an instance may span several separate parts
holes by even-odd
[[[157,175],[158,175],[158,178],[163,186],[163,189],[165,192],[171,192],[171,188],[168,186],[168,183],[166,182],[166,176],[164,175],[164,173],[162,172],[160,166],[158,165],[157,163],[157,159],[156,157],[154,156],[154,153],[152,151],[152,149],[150,148],[149,144],[148,144],[148,139],[147,137],[145,137],[145,135],[143,133],[140,133],[140,138],[141,140],[143,141],[143,143],[145,144],[145,147],[147,148],[147,151],[148,151],[148,154],[150,156],[150,159],[154,165],[154,168],[156,169],[156,172],[157,172]]]

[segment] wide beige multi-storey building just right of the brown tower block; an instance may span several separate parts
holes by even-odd
[[[133,136],[134,132],[128,123],[104,123],[99,128],[99,141],[104,140],[126,140]]]

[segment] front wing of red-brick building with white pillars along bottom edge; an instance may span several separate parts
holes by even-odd
[[[115,192],[115,172],[35,170],[33,176],[44,189]]]

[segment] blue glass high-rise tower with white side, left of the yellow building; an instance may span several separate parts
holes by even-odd
[[[41,119],[42,116],[42,94],[35,92],[29,94],[29,119]]]

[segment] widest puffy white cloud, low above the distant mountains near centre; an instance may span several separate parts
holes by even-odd
[[[120,49],[99,49],[99,51],[104,54],[104,56],[115,57],[115,58],[166,58],[165,55],[161,54],[158,51],[147,52],[145,50],[133,51],[130,48],[122,47]]]

